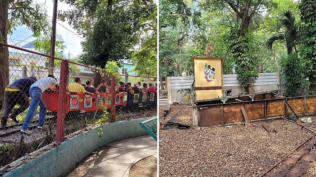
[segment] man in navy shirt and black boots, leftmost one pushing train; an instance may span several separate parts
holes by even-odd
[[[7,126],[7,119],[12,119],[15,123],[19,123],[16,117],[25,111],[30,102],[28,100],[29,89],[33,83],[37,81],[35,76],[17,79],[13,83],[9,84],[4,91],[4,110],[1,117],[1,127]],[[19,108],[16,108],[9,116],[14,106],[18,104]]]

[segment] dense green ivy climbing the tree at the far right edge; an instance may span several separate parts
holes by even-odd
[[[309,91],[316,92],[316,0],[302,0],[299,4],[303,22],[300,56],[303,74],[308,78]]]

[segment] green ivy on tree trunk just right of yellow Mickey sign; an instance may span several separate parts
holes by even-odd
[[[253,93],[252,82],[258,78],[258,73],[256,60],[252,57],[250,36],[243,32],[239,37],[238,27],[231,27],[224,35],[224,42],[229,48],[228,54],[234,60],[237,79],[247,88],[247,93]]]

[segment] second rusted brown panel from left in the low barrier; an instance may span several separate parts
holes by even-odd
[[[242,122],[241,103],[234,105],[223,105],[224,124]],[[234,119],[234,121],[233,121]]]

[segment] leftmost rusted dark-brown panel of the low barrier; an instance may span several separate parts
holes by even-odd
[[[221,124],[220,106],[197,108],[198,126],[206,127]]]

